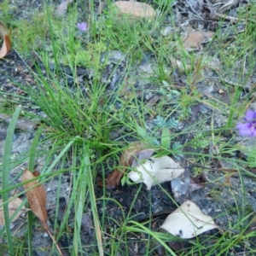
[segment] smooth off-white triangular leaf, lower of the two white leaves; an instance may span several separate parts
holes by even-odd
[[[173,236],[192,238],[207,230],[218,229],[212,217],[201,212],[193,201],[185,201],[178,209],[170,214],[160,229],[166,230]]]

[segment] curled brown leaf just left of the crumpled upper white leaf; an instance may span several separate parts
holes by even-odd
[[[131,163],[137,157],[137,153],[141,150],[144,150],[147,146],[143,143],[132,143],[130,147],[122,153],[120,157],[120,166],[121,169],[116,169],[106,178],[107,189],[114,189],[119,185],[121,177],[123,177],[126,172],[127,166],[131,166]]]

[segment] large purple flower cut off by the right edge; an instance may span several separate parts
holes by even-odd
[[[241,136],[256,137],[256,112],[247,110],[243,122],[239,122],[236,128],[239,130]]]

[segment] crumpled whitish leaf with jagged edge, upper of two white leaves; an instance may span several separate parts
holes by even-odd
[[[145,183],[149,190],[157,183],[171,181],[183,172],[184,169],[171,157],[163,156],[146,160],[143,165],[137,166],[135,171],[130,172],[128,177],[135,183]]]

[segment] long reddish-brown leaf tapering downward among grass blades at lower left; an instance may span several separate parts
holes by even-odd
[[[32,172],[26,169],[22,175],[22,182],[26,182],[35,177],[37,176],[35,176]],[[32,209],[32,212],[40,219],[40,221],[44,226],[44,229],[48,230],[48,225],[47,225],[48,217],[47,217],[47,211],[46,211],[46,192],[45,192],[44,186],[42,184],[38,184],[37,180],[33,180],[30,183],[24,184],[24,189],[26,190],[29,189],[26,191],[26,197],[27,197],[29,206]]]

